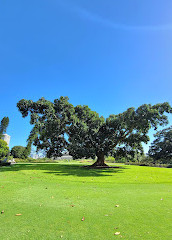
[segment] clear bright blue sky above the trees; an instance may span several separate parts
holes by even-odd
[[[0,29],[10,147],[25,146],[31,129],[16,108],[22,98],[68,96],[105,117],[172,104],[171,0],[0,0]]]

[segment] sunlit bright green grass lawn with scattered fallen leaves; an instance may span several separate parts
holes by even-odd
[[[0,168],[0,239],[172,239],[172,169],[81,166]]]

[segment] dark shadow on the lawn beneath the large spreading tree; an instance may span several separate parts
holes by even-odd
[[[84,168],[80,164],[50,164],[50,163],[35,163],[35,164],[15,164],[9,167],[0,168],[0,172],[10,171],[43,171],[45,174],[54,174],[58,176],[78,176],[78,177],[103,177],[112,176],[114,173],[122,173],[126,167],[119,168]]]

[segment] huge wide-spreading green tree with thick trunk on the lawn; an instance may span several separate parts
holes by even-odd
[[[17,106],[23,117],[30,113],[33,129],[28,145],[46,150],[48,157],[60,156],[65,149],[74,158],[97,157],[94,166],[106,166],[105,156],[116,148],[141,150],[142,142],[149,141],[149,129],[166,125],[165,113],[172,112],[168,103],[144,104],[105,119],[88,106],[74,107],[67,97],[54,102],[22,99]]]

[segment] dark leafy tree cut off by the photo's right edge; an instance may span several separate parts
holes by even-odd
[[[158,131],[155,140],[149,148],[149,156],[154,162],[172,163],[172,126]]]

